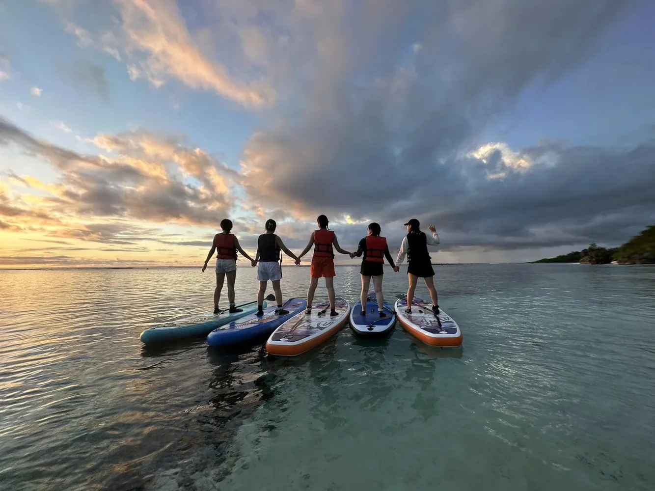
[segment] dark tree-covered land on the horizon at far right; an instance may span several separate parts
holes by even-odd
[[[655,264],[655,225],[642,230],[621,247],[599,247],[573,251],[557,257],[547,257],[533,263],[580,263],[580,264]]]

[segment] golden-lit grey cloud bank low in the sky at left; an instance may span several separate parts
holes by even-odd
[[[46,191],[47,197],[32,199],[60,219],[215,225],[234,202],[230,182],[236,173],[184,139],[141,130],[98,135],[93,142],[105,153],[80,155],[0,118],[0,145],[16,145],[62,173],[55,184],[12,173],[22,185]],[[98,230],[73,228],[72,237],[102,238]]]

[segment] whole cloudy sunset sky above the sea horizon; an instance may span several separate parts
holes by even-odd
[[[322,213],[348,250],[434,224],[435,263],[620,245],[655,224],[654,22],[648,0],[0,1],[0,268],[201,266],[225,217],[299,253]]]

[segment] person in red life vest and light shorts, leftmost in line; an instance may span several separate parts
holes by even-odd
[[[221,300],[221,290],[223,289],[223,282],[225,282],[225,277],[227,276],[227,299],[230,302],[230,313],[234,312],[243,312],[242,308],[236,308],[234,306],[234,281],[236,280],[236,251],[242,253],[243,257],[249,261],[253,261],[244,249],[239,245],[239,241],[231,234],[232,230],[232,221],[229,219],[221,220],[221,228],[223,232],[216,234],[214,236],[214,242],[212,242],[212,249],[210,249],[207,259],[202,266],[202,271],[206,270],[207,263],[212,259],[214,251],[217,251],[216,255],[216,288],[214,289],[214,314],[219,314],[220,309],[218,307],[218,302]]]

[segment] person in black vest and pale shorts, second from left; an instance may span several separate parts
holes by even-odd
[[[282,242],[280,236],[275,234],[277,223],[273,219],[266,221],[266,233],[261,234],[257,239],[257,255],[252,261],[252,265],[257,266],[257,280],[259,280],[259,292],[257,293],[257,316],[263,316],[264,310],[264,294],[266,293],[266,285],[271,280],[273,291],[275,292],[275,300],[278,302],[278,308],[275,313],[284,316],[289,313],[288,310],[282,308],[282,289],[280,289],[280,280],[282,280],[282,257],[280,256],[280,249],[293,257],[295,264],[300,264],[300,259],[287,249],[286,245]]]

